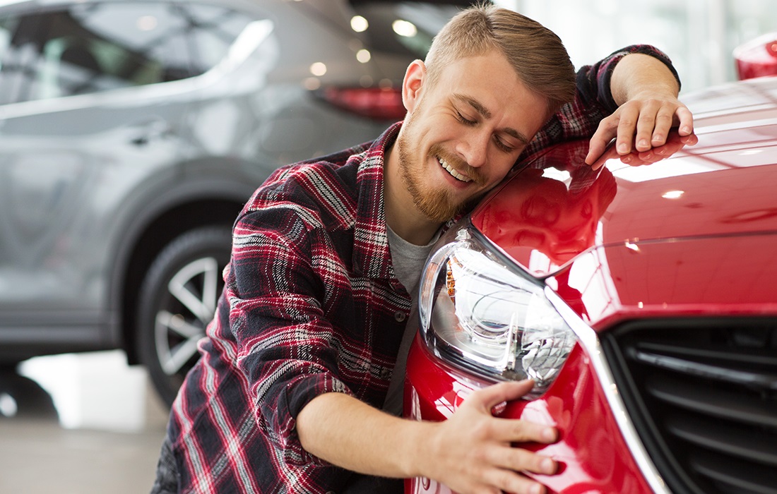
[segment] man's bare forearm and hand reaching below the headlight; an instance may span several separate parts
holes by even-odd
[[[432,478],[461,494],[540,494],[545,488],[518,472],[549,475],[556,462],[511,444],[552,443],[556,429],[491,413],[532,386],[531,381],[508,382],[476,391],[441,423],[400,419],[353,396],[327,393],[301,410],[297,433],[306,451],[347,470]]]

